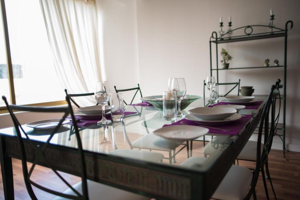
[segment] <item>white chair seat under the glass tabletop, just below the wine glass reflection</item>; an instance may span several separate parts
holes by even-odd
[[[140,151],[133,149],[116,149],[110,151],[109,154],[115,156],[121,156],[126,158],[133,158],[137,160],[150,161],[150,162],[159,162],[164,158],[164,155],[152,151]]]

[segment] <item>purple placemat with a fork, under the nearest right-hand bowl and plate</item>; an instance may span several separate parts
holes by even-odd
[[[244,116],[246,116],[246,117],[242,117],[239,120],[233,121],[229,124],[220,124],[220,125],[209,124],[209,125],[207,125],[210,127],[216,127],[216,128],[220,128],[220,129],[230,129],[230,131],[216,130],[213,128],[204,127],[204,126],[206,126],[205,124],[203,124],[203,127],[209,129],[208,133],[217,133],[217,134],[236,136],[241,131],[241,129],[248,123],[248,121],[252,118],[252,115],[244,115]],[[197,124],[195,121],[191,121],[188,119],[182,119],[173,124],[168,124],[168,125],[164,125],[164,126],[182,125],[180,122],[184,122],[185,124],[191,125],[191,126],[201,126],[201,124]]]

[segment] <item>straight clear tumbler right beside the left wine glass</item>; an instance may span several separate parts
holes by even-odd
[[[124,103],[122,93],[110,94],[110,116],[113,121],[123,121],[124,118]]]

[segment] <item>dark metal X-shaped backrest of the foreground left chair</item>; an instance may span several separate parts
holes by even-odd
[[[46,148],[49,146],[49,142],[52,139],[52,137],[54,136],[55,133],[59,134],[59,130],[62,127],[62,123],[65,120],[65,118],[68,115],[71,115],[72,121],[75,121],[75,117],[73,115],[73,111],[72,111],[72,107],[71,107],[71,103],[70,103],[70,99],[69,97],[66,97],[68,106],[63,106],[63,107],[36,107],[36,106],[17,106],[17,105],[9,105],[7,103],[6,97],[2,96],[2,99],[4,100],[7,109],[10,113],[10,116],[12,118],[13,124],[15,126],[16,129],[16,134],[19,140],[19,145],[20,145],[20,150],[21,150],[21,157],[22,157],[22,169],[23,169],[23,178],[25,181],[25,185],[27,188],[27,191],[29,193],[29,196],[31,197],[31,199],[37,199],[35,196],[35,193],[32,190],[32,185],[44,190],[48,193],[51,193],[53,195],[57,195],[57,196],[61,196],[64,198],[68,198],[68,199],[88,199],[88,189],[87,189],[87,182],[86,182],[86,169],[85,169],[85,159],[84,159],[84,153],[83,153],[83,149],[82,149],[82,143],[81,143],[81,139],[79,136],[79,132],[78,132],[78,127],[76,123],[73,123],[74,126],[74,132],[76,135],[76,139],[77,139],[77,144],[78,144],[78,153],[79,153],[79,164],[80,164],[80,169],[81,169],[81,179],[82,179],[82,194],[80,194],[77,190],[75,190],[55,169],[54,166],[52,166],[45,157],[45,151]],[[14,111],[29,111],[29,112],[45,112],[45,113],[63,113],[63,116],[61,118],[61,120],[59,120],[58,125],[52,129],[49,130],[49,138],[46,140],[46,142],[41,145],[39,143],[39,145],[37,145],[36,142],[32,141],[30,139],[30,137],[28,136],[28,134],[26,133],[26,131],[24,131],[23,127],[21,126],[20,122],[18,121],[16,115],[14,114]],[[21,131],[23,132],[25,138],[22,138],[22,134]],[[27,166],[27,161],[28,158],[26,156],[26,151],[25,151],[25,141],[27,141],[26,143],[29,144],[31,146],[31,148],[34,150],[35,152],[35,157],[33,159],[33,164],[30,167],[30,169]],[[64,194],[64,193],[60,193],[58,191],[52,190],[48,187],[44,187],[43,185],[32,181],[31,175],[33,170],[35,169],[35,166],[39,163],[44,163],[44,166],[49,167],[50,169],[53,170],[53,172],[61,179],[61,181],[63,181],[74,193],[75,195],[68,195],[68,194]]]

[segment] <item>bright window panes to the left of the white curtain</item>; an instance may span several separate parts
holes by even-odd
[[[16,104],[64,100],[39,1],[6,0],[5,7]],[[0,92],[10,97],[3,28],[0,32]]]

